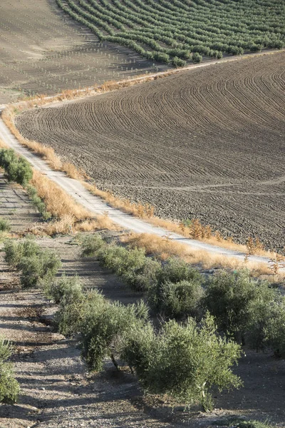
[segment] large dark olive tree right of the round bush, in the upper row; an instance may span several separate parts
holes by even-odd
[[[254,305],[261,301],[271,302],[275,295],[267,282],[252,280],[246,270],[222,272],[209,280],[204,305],[224,333],[244,343],[244,335],[254,321]]]

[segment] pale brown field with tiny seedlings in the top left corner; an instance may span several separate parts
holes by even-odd
[[[0,41],[0,104],[167,68],[118,45],[100,44],[54,0],[1,0]]]

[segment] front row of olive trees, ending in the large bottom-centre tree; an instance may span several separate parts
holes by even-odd
[[[96,291],[83,292],[78,277],[61,277],[46,287],[59,304],[56,326],[63,335],[81,334],[82,355],[90,370],[103,369],[105,358],[128,365],[147,392],[169,394],[178,402],[212,408],[212,387],[240,387],[232,372],[241,347],[217,332],[207,313],[154,327],[144,302],[108,302]]]

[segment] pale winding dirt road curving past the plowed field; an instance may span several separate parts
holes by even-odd
[[[131,215],[125,214],[118,209],[110,207],[107,203],[103,202],[102,199],[92,195],[84,186],[78,181],[68,178],[64,173],[60,171],[52,170],[48,164],[43,161],[41,158],[35,154],[28,151],[27,148],[21,146],[21,144],[16,140],[16,138],[11,134],[9,129],[6,127],[2,119],[0,118],[0,138],[7,146],[13,148],[16,153],[24,156],[33,168],[40,170],[41,173],[45,174],[48,178],[53,180],[56,184],[60,185],[63,190],[71,195],[78,203],[81,203],[85,208],[90,210],[94,215],[102,215],[103,213],[108,213],[110,220],[114,223],[120,225],[122,228],[131,230],[135,233],[150,233],[157,236],[171,235],[173,241],[178,243],[183,243],[190,247],[192,250],[204,250],[210,254],[214,255],[224,255],[229,258],[236,258],[237,260],[244,260],[244,253],[240,253],[235,250],[227,250],[225,248],[219,248],[215,245],[209,245],[207,243],[202,243],[198,240],[191,240],[184,238],[182,235],[176,233],[169,233],[166,229],[156,228],[148,224],[143,220],[134,218]],[[252,262],[257,263],[269,263],[269,259],[261,256],[250,257]]]

